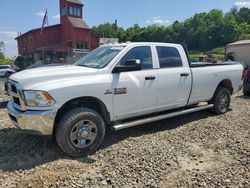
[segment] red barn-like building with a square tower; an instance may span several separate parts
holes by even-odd
[[[20,55],[47,63],[73,61],[98,46],[83,20],[79,0],[60,0],[60,24],[30,30],[16,40]]]

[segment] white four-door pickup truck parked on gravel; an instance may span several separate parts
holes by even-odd
[[[7,108],[18,128],[55,135],[59,147],[77,157],[96,151],[107,127],[120,130],[205,109],[226,113],[242,73],[240,64],[192,66],[178,44],[107,45],[74,65],[12,75]]]

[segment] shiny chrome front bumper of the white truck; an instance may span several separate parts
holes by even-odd
[[[48,111],[19,111],[12,102],[7,105],[9,116],[13,124],[24,131],[36,135],[51,135],[57,109]]]

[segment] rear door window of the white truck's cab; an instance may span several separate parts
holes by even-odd
[[[182,67],[182,59],[180,53],[175,47],[156,46],[159,58],[160,68],[176,68]]]

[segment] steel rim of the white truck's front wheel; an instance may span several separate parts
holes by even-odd
[[[76,123],[70,132],[71,144],[79,149],[89,147],[96,140],[97,126],[91,120],[82,120]]]

